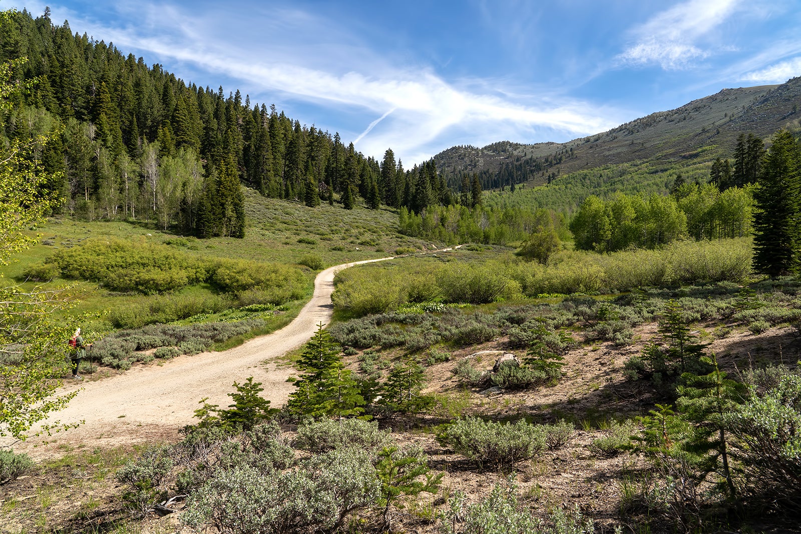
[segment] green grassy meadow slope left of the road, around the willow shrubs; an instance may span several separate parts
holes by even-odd
[[[211,259],[215,257],[242,259],[260,262],[275,262],[292,265],[301,270],[308,280],[304,300],[288,303],[288,310],[268,323],[264,328],[248,336],[231,338],[215,346],[224,350],[246,341],[247,338],[268,334],[280,329],[295,318],[305,301],[312,295],[312,282],[317,270],[299,261],[308,263],[314,256],[320,259],[321,267],[338,265],[349,261],[367,260],[394,254],[396,249],[421,251],[430,248],[428,241],[403,236],[396,231],[397,214],[394,210],[382,208],[368,210],[356,208],[346,210],[339,204],[321,204],[319,208],[307,208],[303,204],[284,200],[268,199],[252,190],[245,190],[247,228],[244,239],[216,237],[200,240],[195,237],[176,236],[163,232],[152,224],[142,221],[84,221],[65,217],[54,217],[38,228],[30,229],[31,234],[41,235],[37,245],[18,253],[14,261],[0,266],[0,274],[6,285],[20,284],[23,289],[31,289],[36,284],[24,281],[22,273],[29,265],[41,263],[54,251],[80,246],[88,239],[116,238],[124,241],[139,241],[165,244],[176,252],[188,256]],[[108,310],[129,309],[147,302],[146,295],[134,293],[115,293],[89,281],[66,281],[60,278],[45,284],[52,288],[69,285],[73,307],[60,314],[91,314],[96,318],[83,323],[84,330],[108,331]],[[217,290],[208,284],[191,285],[171,293],[181,297],[211,297]],[[224,314],[223,314],[224,315]],[[224,319],[221,314],[209,315],[204,322]]]

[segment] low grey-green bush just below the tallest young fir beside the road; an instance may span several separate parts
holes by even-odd
[[[378,451],[392,444],[387,431],[378,429],[378,423],[361,419],[321,419],[298,427],[295,446],[314,454],[344,447],[364,451]]]

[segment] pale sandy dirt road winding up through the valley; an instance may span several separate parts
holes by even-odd
[[[362,263],[390,260],[356,261],[329,267],[317,275],[312,300],[300,310],[297,318],[283,329],[224,352],[205,352],[181,356],[163,362],[162,366],[137,366],[123,374],[97,382],[69,382],[65,390],[83,387],[65,410],[52,418],[62,422],[85,420],[81,427],[54,435],[52,444],[33,449],[32,444],[14,448],[32,456],[46,456],[59,443],[83,443],[85,447],[107,447],[123,443],[146,443],[175,439],[178,429],[193,423],[198,401],[208,397],[209,403],[227,407],[231,384],[252,376],[262,382],[264,398],[280,407],[292,392],[286,382],[294,372],[274,361],[289,350],[307,342],[317,324],[331,319],[331,293],[334,275],[341,269]],[[40,443],[40,442],[39,442]]]

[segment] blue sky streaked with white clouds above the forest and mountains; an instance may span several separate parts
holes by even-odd
[[[406,164],[801,75],[799,0],[2,0]]]

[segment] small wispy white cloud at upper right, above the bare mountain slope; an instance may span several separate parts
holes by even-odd
[[[662,11],[632,31],[634,43],[618,55],[618,61],[677,70],[705,59],[712,52],[699,41],[729,18],[741,1],[690,0]]]

